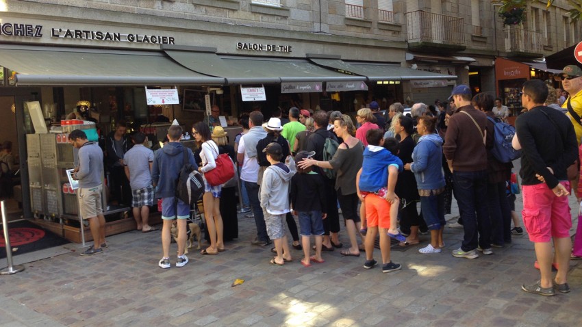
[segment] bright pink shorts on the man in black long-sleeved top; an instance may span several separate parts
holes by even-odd
[[[570,189],[570,182],[561,181]],[[546,185],[522,185],[523,189],[523,224],[529,240],[549,242],[552,237],[570,237],[572,216],[568,196],[555,196]]]

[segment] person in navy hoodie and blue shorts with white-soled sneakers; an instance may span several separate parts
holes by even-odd
[[[162,250],[164,257],[158,265],[161,268],[170,267],[170,228],[172,221],[177,218],[178,228],[178,257],[176,267],[184,267],[188,263],[188,257],[184,255],[184,244],[186,244],[186,220],[190,217],[190,205],[183,200],[176,198],[176,184],[181,168],[184,166],[184,155],[188,156],[188,163],[197,170],[194,155],[189,148],[184,148],[180,144],[182,128],[179,125],[172,125],[168,129],[168,144],[162,151],[156,151],[153,158],[151,178],[153,185],[157,185],[157,196],[162,198]]]

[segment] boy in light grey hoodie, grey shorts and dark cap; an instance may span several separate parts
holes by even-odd
[[[270,264],[283,265],[285,261],[292,260],[285,226],[287,225],[286,215],[290,212],[289,189],[295,170],[291,170],[279,161],[283,155],[283,148],[279,143],[268,144],[263,152],[266,153],[271,166],[268,166],[263,174],[260,200],[267,235],[273,240],[275,250],[277,250],[277,257],[271,259]]]

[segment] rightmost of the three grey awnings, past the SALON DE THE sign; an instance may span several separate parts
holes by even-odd
[[[340,73],[368,77],[370,81],[412,81],[418,79],[456,79],[455,75],[441,75],[424,70],[405,68],[391,64],[368,62],[344,62],[339,59],[309,58],[319,66],[336,70]]]

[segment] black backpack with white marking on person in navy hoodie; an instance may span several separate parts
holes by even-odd
[[[188,150],[184,148],[184,164],[178,174],[175,194],[176,199],[190,206],[194,205],[204,193],[202,174],[195,167],[188,162]]]

